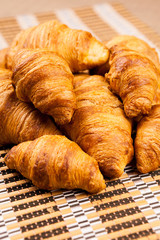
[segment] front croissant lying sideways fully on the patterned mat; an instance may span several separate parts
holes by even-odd
[[[96,160],[65,136],[45,135],[20,143],[5,162],[41,189],[81,188],[96,193],[105,188]]]

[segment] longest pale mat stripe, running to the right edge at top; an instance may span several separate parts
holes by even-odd
[[[93,5],[94,11],[101,19],[108,23],[117,33],[134,35],[146,41],[150,46],[156,48],[159,56],[160,51],[157,46],[151,42],[144,34],[142,34],[132,23],[122,17],[109,3]]]

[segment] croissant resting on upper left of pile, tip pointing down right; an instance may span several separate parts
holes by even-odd
[[[13,59],[17,97],[32,102],[58,124],[70,122],[76,99],[67,62],[46,49],[22,49]]]

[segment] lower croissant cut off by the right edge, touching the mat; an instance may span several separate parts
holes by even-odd
[[[135,138],[137,169],[148,173],[160,166],[160,105],[152,107],[137,125]]]

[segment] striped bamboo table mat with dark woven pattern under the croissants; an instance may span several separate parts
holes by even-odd
[[[135,35],[159,52],[160,36],[118,2],[0,19],[0,48],[21,29],[50,19],[102,41],[117,33]],[[7,151],[0,149],[0,240],[160,239],[160,170],[139,174],[133,163],[119,179],[106,180],[106,190],[96,195],[47,192],[6,167]]]

